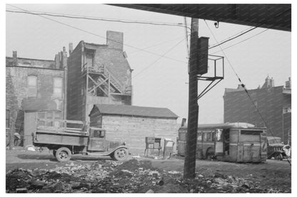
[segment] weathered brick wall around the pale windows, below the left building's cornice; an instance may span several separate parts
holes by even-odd
[[[28,75],[37,76],[36,97],[29,97]],[[64,78],[64,70],[6,66],[6,110],[10,111],[12,133],[24,134],[24,124],[21,124],[25,109],[41,107],[64,112],[64,91],[61,98],[54,97],[54,78]]]

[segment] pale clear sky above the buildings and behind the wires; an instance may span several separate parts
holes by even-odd
[[[166,25],[184,23],[182,16],[105,4],[11,5],[6,4],[6,10],[24,9],[113,18],[117,21],[138,21],[120,23],[6,12],[6,56],[11,57],[12,51],[17,50],[21,58],[54,60],[54,55],[61,51],[63,46],[68,50],[69,43],[73,43],[74,47],[79,41],[105,44],[106,31],[123,32],[124,50],[134,70],[133,105],[167,107],[180,117],[178,121],[188,117],[186,30],[182,26]],[[158,22],[163,25],[143,24],[139,21]],[[186,18],[186,21],[189,27],[191,18]],[[221,22],[216,28],[214,22],[199,20],[198,34],[208,37],[210,46],[251,28]],[[256,28],[221,45],[225,54],[220,47],[209,50],[210,54],[224,56],[225,78],[198,100],[199,124],[223,122],[223,93],[225,88],[238,86],[236,74],[248,89],[263,85],[267,76],[274,79],[275,86],[285,85],[286,80],[291,77],[291,43],[291,32]],[[201,92],[205,85],[199,81],[198,90]]]

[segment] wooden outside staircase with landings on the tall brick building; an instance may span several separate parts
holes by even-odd
[[[87,95],[95,97],[109,97],[110,95],[131,96],[131,85],[121,82],[105,64],[88,65],[86,63],[83,72],[87,78]]]

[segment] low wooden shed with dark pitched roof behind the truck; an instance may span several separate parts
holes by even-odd
[[[126,142],[132,154],[144,154],[145,137],[160,137],[162,147],[165,138],[176,142],[177,118],[167,108],[133,105],[99,104],[90,113],[91,126],[106,129],[106,139]]]

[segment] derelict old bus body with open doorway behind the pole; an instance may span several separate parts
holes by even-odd
[[[187,126],[178,129],[178,154],[186,154]],[[267,158],[266,128],[248,123],[201,124],[197,131],[197,159],[262,162]]]

